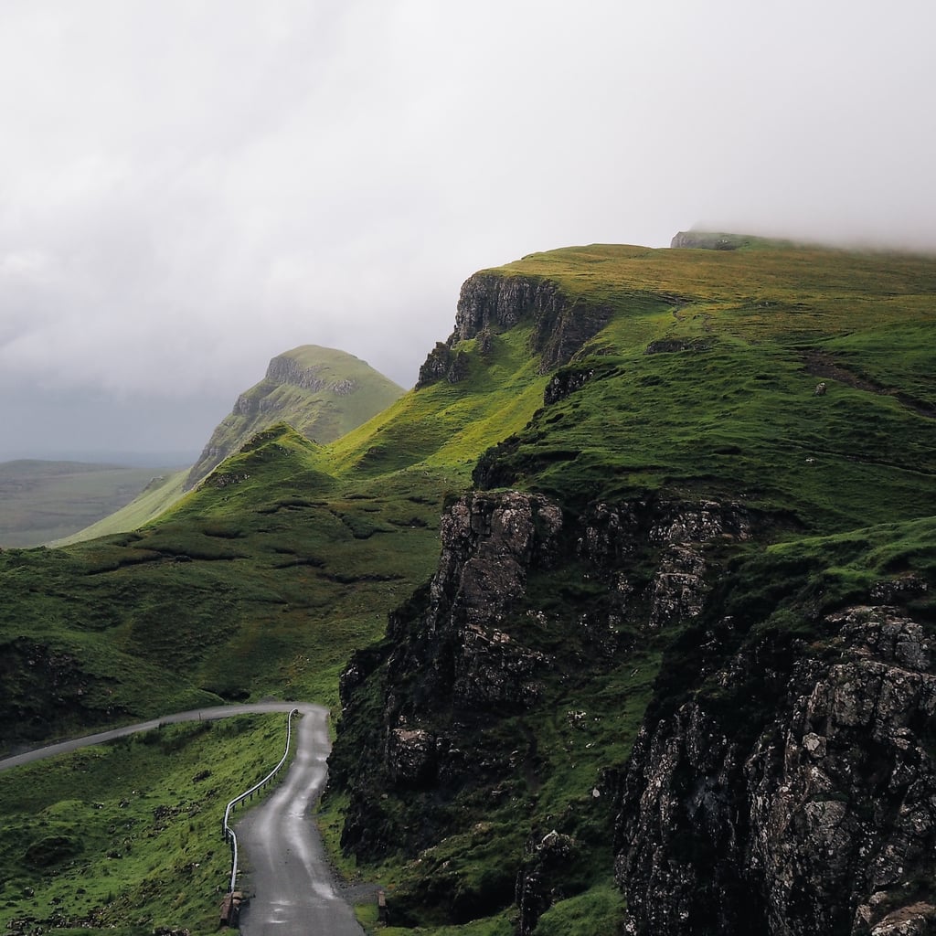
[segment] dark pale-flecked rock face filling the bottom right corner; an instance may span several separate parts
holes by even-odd
[[[885,606],[820,632],[722,659],[713,635],[695,698],[645,726],[617,829],[636,932],[932,931],[931,638]]]

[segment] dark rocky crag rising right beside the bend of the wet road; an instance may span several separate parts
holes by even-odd
[[[559,700],[571,684],[632,670],[636,646],[693,619],[709,590],[711,550],[746,538],[751,525],[737,506],[715,502],[597,504],[575,518],[518,491],[451,505],[430,585],[391,617],[385,645],[359,652],[344,672],[330,762],[332,782],[350,797],[344,846],[362,858],[416,855],[469,834],[460,811],[470,826],[478,802],[548,782],[534,713],[567,706]],[[581,709],[568,719],[591,721]],[[498,733],[509,746],[491,742]],[[583,792],[590,814],[607,811],[609,797]],[[528,827],[529,847],[499,858],[472,913],[519,895],[520,931],[532,932],[557,887],[574,892],[569,869],[583,860],[582,843],[563,826],[544,838],[550,829],[529,806],[516,821]],[[433,886],[434,899],[454,906]],[[398,912],[404,901],[398,895]]]

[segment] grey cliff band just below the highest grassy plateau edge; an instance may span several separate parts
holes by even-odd
[[[481,351],[490,335],[521,322],[534,326],[531,350],[540,355],[540,371],[548,373],[566,363],[585,342],[603,329],[611,310],[581,298],[570,299],[549,280],[498,273],[475,273],[461,286],[455,330],[438,343],[419,372],[417,388],[441,379],[461,380],[465,361],[457,344],[478,339]]]

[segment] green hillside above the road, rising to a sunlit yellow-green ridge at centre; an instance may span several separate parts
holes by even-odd
[[[62,674],[50,699],[40,684],[45,671],[0,667],[7,741],[196,707],[212,694],[335,705],[338,674],[350,652],[381,636],[388,610],[430,576],[446,495],[468,483],[482,448],[517,431],[541,399],[544,378],[534,373],[517,336],[501,344],[491,364],[521,373],[493,391],[482,373],[459,388],[446,384],[410,394],[340,446],[314,446],[277,427],[138,533],[0,554],[0,644],[9,648],[27,635],[31,644],[51,649]],[[449,414],[444,431],[418,431],[443,411]],[[479,423],[489,425],[490,434],[479,431]],[[384,457],[383,439],[408,436],[405,451],[377,474],[373,463]],[[362,464],[371,464],[371,471]],[[154,773],[146,781],[152,783],[163,769],[159,757],[139,767]],[[19,773],[0,777],[0,796]],[[67,769],[58,776],[61,786],[51,782],[44,808],[64,808],[53,806],[54,797],[80,797]],[[168,783],[179,796],[197,790],[183,774]],[[80,812],[74,825],[87,822]],[[196,851],[205,847],[197,841],[193,836]],[[82,899],[83,913],[100,906],[101,888],[108,886],[100,880],[108,876],[108,862],[93,851],[89,847],[80,864],[94,882],[85,889],[95,895]],[[0,923],[35,915],[37,903],[43,918],[46,904],[23,897],[23,888],[53,895],[50,876],[66,873],[72,860],[64,856],[37,870],[14,854],[6,890],[0,885],[0,908],[7,901]],[[130,894],[151,883],[151,903],[174,903],[179,874],[184,877],[164,872],[156,887],[152,869],[124,862],[120,871]],[[208,920],[213,887],[198,886],[197,898],[185,887],[186,899],[197,899],[197,914]],[[127,909],[121,914],[120,906],[106,901],[108,918],[136,919]],[[193,920],[189,916],[186,925]],[[207,925],[193,929],[207,931]]]

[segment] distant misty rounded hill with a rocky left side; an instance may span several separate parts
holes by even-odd
[[[272,358],[260,383],[234,403],[189,472],[191,490],[257,432],[285,422],[324,444],[402,396],[402,388],[344,351],[304,344]]]

